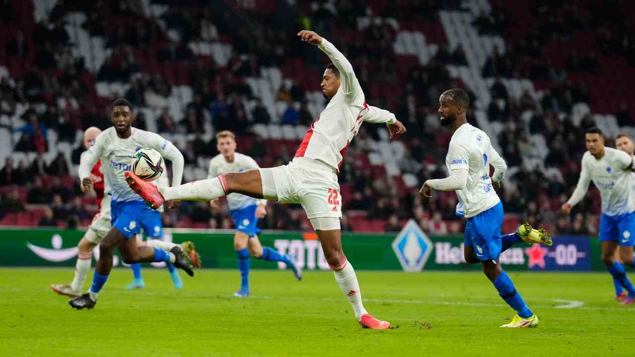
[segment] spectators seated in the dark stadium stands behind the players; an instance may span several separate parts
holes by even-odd
[[[36,154],[32,162],[22,159],[16,163],[11,156],[6,158],[0,171],[4,192],[0,196],[0,216],[33,209],[41,212],[39,222],[34,222],[41,226],[76,227],[90,221],[96,207],[87,205],[90,199],[81,194],[73,179],[76,173],[64,155],[60,153],[50,162],[44,159],[48,135],[54,131],[59,142],[72,144],[71,163],[79,164],[83,147],[76,139],[77,132],[88,126],[107,128],[107,104],[119,96],[135,107],[159,109],[161,114],[154,118],[159,133],[197,134],[194,140],[179,147],[189,165],[197,165],[197,158],[217,154],[214,140],[198,135],[208,128],[214,132],[232,130],[239,138],[248,138],[239,140],[238,151],[253,156],[262,165],[290,161],[293,151],[284,145],[274,151],[276,147],[258,137],[252,127],[255,123],[271,122],[308,126],[315,119],[307,107],[307,92],[318,87],[324,62],[314,48],[302,46],[295,38],[294,30],[300,27],[311,27],[332,38],[354,65],[368,102],[394,112],[406,125],[408,133],[399,138],[407,147],[398,163],[401,172],[415,175],[420,183],[445,177],[442,163],[451,133],[427,118],[434,117],[441,91],[467,88],[446,67],[467,64],[466,54],[461,46],[451,50],[446,39],[437,36],[439,49],[427,64],[406,64],[394,54],[396,29],[386,19],[427,29],[429,24],[439,24],[439,11],[460,9],[460,1],[405,1],[402,7],[384,8],[382,17],[374,17],[377,21],[371,21],[364,29],[358,28],[355,19],[373,14],[377,8],[363,1],[321,5],[297,1],[297,6],[274,16],[295,21],[276,21],[274,25],[269,15],[237,11],[231,6],[203,9],[189,6],[188,1],[179,1],[181,6],[171,1],[153,3],[168,4],[169,8],[160,17],[147,17],[138,0],[58,0],[48,17],[35,22],[32,15],[29,17],[32,6],[17,8],[11,1],[1,1],[3,22],[15,25],[17,31],[10,41],[4,40],[2,62],[10,68],[10,75],[0,81],[0,114],[14,116],[18,104],[27,109],[20,116],[25,123],[22,127],[4,122],[0,125],[20,133],[19,140],[13,143],[14,151]],[[596,190],[591,190],[587,199],[574,208],[571,219],[558,213],[578,179],[580,158],[585,151],[584,129],[594,126],[590,113],[579,123],[572,119],[575,104],[594,102],[593,91],[572,79],[572,74],[602,74],[604,67],[598,58],[609,54],[624,56],[632,65],[635,41],[632,32],[614,29],[605,17],[591,17],[590,8],[571,1],[560,5],[536,3],[540,4],[535,6],[535,16],[549,14],[544,25],[526,33],[514,32],[504,53],[495,48],[482,69],[484,77],[493,77],[487,116],[502,125],[497,139],[507,165],[518,167],[505,179],[499,194],[505,212],[513,213],[518,220],[544,224],[558,232],[592,234],[598,225]],[[474,26],[481,34],[500,35],[516,23],[512,10],[495,2],[489,14],[476,18]],[[555,10],[579,16],[564,17]],[[65,16],[72,12],[84,13],[86,22],[81,27],[91,36],[105,39],[108,55],[96,72],[88,69],[84,58],[74,55],[77,44],[70,41],[65,27]],[[244,22],[249,25],[243,26]],[[566,43],[578,32],[598,28],[598,36],[606,39],[598,53],[585,52],[583,56],[573,50],[564,62],[551,62],[546,53],[547,40]],[[213,57],[196,55],[189,46],[196,41],[231,44],[232,57],[227,65],[221,65]],[[246,77],[258,76],[262,67],[284,67],[296,60],[305,65],[308,79],[294,78],[290,86],[281,86],[276,101],[288,106],[280,118],[272,118],[246,83]],[[194,93],[180,118],[175,118],[166,105],[177,83],[161,72],[149,70],[164,65],[183,69],[178,81],[190,85]],[[512,96],[502,81],[509,77],[530,78],[540,84],[544,95],[535,98],[525,92],[521,97]],[[99,97],[96,81],[125,82],[130,88],[108,98]],[[478,100],[479,93],[469,94],[472,102]],[[620,105],[610,108],[613,112],[609,114],[615,114],[620,125],[633,126],[625,97],[618,99]],[[248,110],[246,102],[250,100],[256,104]],[[521,119],[526,112],[531,112],[528,125]],[[138,128],[147,128],[149,118],[144,115],[137,114]],[[471,115],[471,123],[476,124],[473,111]],[[345,199],[342,229],[359,229],[353,222],[359,222],[361,217],[373,221],[373,228],[378,231],[399,231],[408,219],[417,220],[424,231],[432,234],[460,231],[462,220],[454,215],[457,198],[453,192],[439,192],[430,205],[424,206],[416,189],[399,187],[383,170],[369,165],[368,153],[373,142],[381,140],[380,130],[385,129],[362,126],[340,168]],[[525,165],[525,158],[533,156],[535,150],[528,138],[536,134],[544,137],[549,152],[544,170]],[[241,146],[247,143],[248,146]],[[186,170],[184,182],[190,179]],[[262,229],[310,229],[298,207],[270,203],[267,212],[260,222]],[[226,205],[213,212],[206,202],[184,203],[164,213],[166,227],[178,226],[177,222],[190,222],[196,227],[232,227]]]

